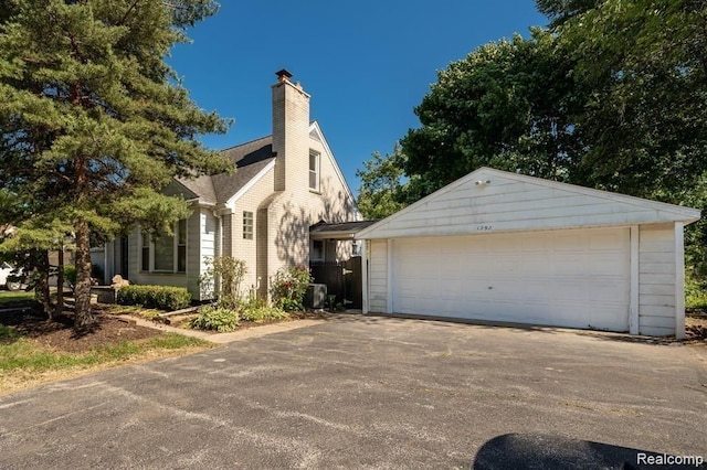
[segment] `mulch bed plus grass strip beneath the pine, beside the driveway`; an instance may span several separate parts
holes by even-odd
[[[70,307],[48,321],[32,300],[0,309],[0,395],[108,367],[213,348],[210,342],[135,324],[96,306],[91,329],[73,328]]]

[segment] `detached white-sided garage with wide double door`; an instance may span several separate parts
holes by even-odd
[[[365,312],[684,334],[699,211],[487,168],[359,232]]]

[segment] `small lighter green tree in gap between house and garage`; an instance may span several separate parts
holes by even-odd
[[[371,159],[363,162],[363,170],[356,170],[356,175],[361,180],[357,205],[363,217],[384,218],[405,206],[400,202],[404,200],[404,161],[400,146],[395,146],[393,153],[386,157],[373,152]]]

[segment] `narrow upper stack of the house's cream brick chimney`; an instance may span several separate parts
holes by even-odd
[[[309,95],[289,81],[292,73],[275,73],[273,89],[273,151],[275,191],[307,188],[309,178]]]

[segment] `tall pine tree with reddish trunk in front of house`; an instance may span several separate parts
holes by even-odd
[[[228,122],[190,98],[165,57],[212,0],[0,1],[0,183],[24,201],[17,238],[66,227],[76,245],[76,325],[91,312],[89,236],[140,223],[169,232],[175,177],[226,170],[197,138]],[[2,212],[0,212],[2,214]],[[8,243],[8,242],[3,242]]]

